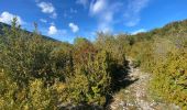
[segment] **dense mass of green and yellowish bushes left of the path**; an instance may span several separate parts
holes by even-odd
[[[36,28],[22,31],[16,19],[3,30],[0,48],[0,109],[8,110],[105,106],[117,72],[128,64],[116,40],[100,47],[81,37],[74,44],[54,42]]]

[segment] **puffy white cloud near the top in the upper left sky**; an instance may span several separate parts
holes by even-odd
[[[57,13],[51,2],[37,2],[37,7],[41,8],[43,13],[48,13],[51,18],[56,19]]]

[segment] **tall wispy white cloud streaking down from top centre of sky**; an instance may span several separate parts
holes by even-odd
[[[111,32],[114,23],[114,14],[121,3],[109,0],[92,0],[89,13],[98,20],[98,30],[102,32]]]

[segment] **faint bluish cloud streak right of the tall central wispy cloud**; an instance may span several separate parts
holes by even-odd
[[[124,11],[127,26],[135,26],[141,21],[141,11],[147,6],[148,0],[130,0]]]

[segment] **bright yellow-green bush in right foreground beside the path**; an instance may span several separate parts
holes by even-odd
[[[154,68],[152,88],[160,96],[187,109],[187,53],[167,53],[166,61],[160,61]]]

